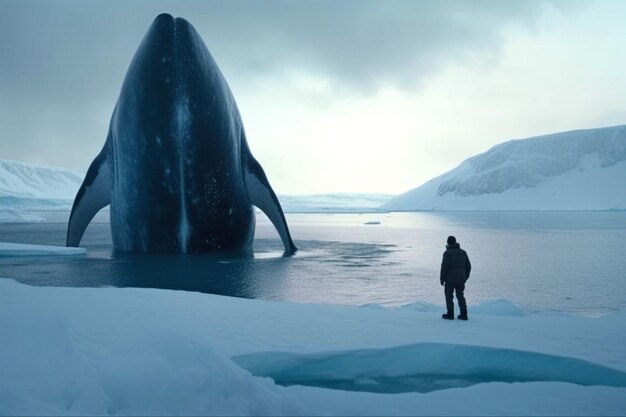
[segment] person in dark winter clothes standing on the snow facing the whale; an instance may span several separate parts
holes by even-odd
[[[465,291],[465,283],[469,279],[472,264],[469,261],[467,252],[461,249],[454,236],[448,236],[448,244],[446,251],[443,253],[441,261],[441,274],[439,280],[444,286],[446,295],[447,313],[441,317],[446,320],[454,320],[454,299],[453,294],[456,293],[456,299],[459,303],[458,319],[467,320],[467,303],[463,292]]]

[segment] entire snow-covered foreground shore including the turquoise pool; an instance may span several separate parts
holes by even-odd
[[[626,312],[441,310],[0,279],[0,414],[624,414]]]

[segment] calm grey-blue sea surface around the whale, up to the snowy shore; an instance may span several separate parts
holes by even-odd
[[[0,240],[63,245],[68,213],[0,224]],[[626,309],[626,212],[288,214],[299,252],[283,258],[257,218],[255,256],[114,253],[108,212],[87,229],[84,256],[0,257],[0,277],[31,285],[154,287],[347,305],[443,304],[439,267],[454,234],[473,269],[471,304],[509,299],[531,311]],[[366,224],[380,222],[380,224]]]

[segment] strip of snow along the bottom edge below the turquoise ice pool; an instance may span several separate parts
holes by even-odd
[[[428,394],[369,394],[292,387],[305,408],[336,416],[598,416],[624,415],[623,388],[559,382],[488,383]],[[620,409],[621,407],[621,409]]]

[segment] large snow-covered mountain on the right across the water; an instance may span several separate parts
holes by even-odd
[[[626,209],[626,125],[496,145],[382,208]]]

